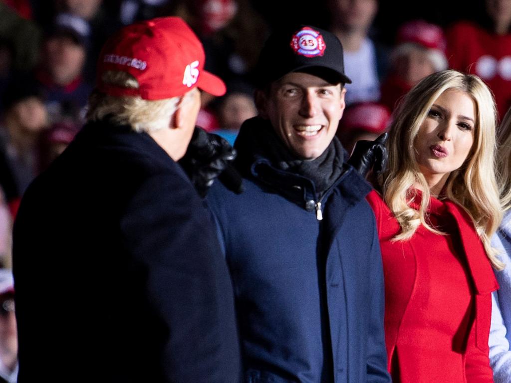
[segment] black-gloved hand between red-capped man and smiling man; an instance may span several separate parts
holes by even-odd
[[[179,164],[202,198],[217,177],[228,189],[239,194],[243,191],[241,176],[231,165],[235,157],[236,150],[224,138],[196,126]]]

